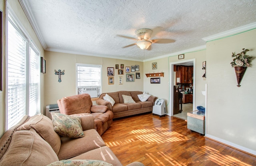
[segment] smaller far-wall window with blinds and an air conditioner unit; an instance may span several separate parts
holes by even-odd
[[[91,97],[99,97],[102,86],[102,66],[76,63],[77,94],[88,93]]]

